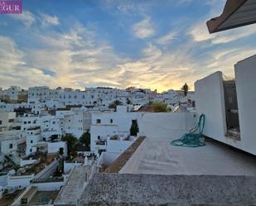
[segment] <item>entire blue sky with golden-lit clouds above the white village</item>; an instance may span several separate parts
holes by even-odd
[[[0,86],[180,89],[256,53],[256,26],[209,34],[225,0],[23,0],[0,14]]]

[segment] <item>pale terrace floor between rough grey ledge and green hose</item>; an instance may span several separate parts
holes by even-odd
[[[119,173],[256,176],[256,156],[213,140],[196,148],[171,146],[170,141],[146,138]]]

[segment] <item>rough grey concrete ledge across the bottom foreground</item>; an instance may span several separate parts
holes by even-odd
[[[256,205],[256,178],[96,174],[80,198],[92,205]]]

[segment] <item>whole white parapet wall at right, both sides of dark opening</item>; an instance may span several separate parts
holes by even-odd
[[[256,155],[256,55],[235,65],[240,141],[226,137],[225,93],[220,71],[195,83],[196,112],[205,113],[204,134]]]

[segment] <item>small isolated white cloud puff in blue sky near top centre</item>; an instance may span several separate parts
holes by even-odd
[[[146,17],[141,22],[133,25],[133,35],[139,39],[145,39],[155,34],[151,19]]]

